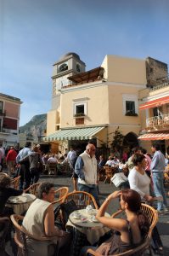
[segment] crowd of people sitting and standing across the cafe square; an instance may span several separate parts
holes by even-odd
[[[2,148],[2,147],[1,147]],[[0,161],[3,166],[4,155],[0,148]],[[58,163],[63,159],[62,164],[69,164],[72,173],[74,190],[85,191],[95,198],[99,211],[96,218],[104,226],[114,230],[109,240],[104,241],[99,247],[93,247],[96,252],[102,255],[113,255],[122,253],[129,248],[135,247],[144,241],[149,232],[149,221],[141,211],[141,203],[148,203],[156,207],[159,214],[168,212],[166,192],[164,189],[164,170],[168,161],[161,153],[160,145],[153,143],[151,147],[152,156],[147,154],[144,148],[132,148],[132,155],[128,158],[127,151],[119,154],[117,150],[111,154],[107,160],[103,155],[96,159],[96,147],[93,143],[87,143],[86,149],[82,154],[78,154],[75,148],[70,148],[67,154],[47,155],[42,154],[38,145],[31,148],[31,143],[26,143],[25,147],[17,154],[14,147],[11,147],[6,155],[8,174],[0,173],[0,217],[10,216],[14,212],[5,206],[8,197],[11,195],[21,195],[24,189],[30,184],[37,183],[39,179],[39,164],[48,165]],[[20,175],[20,189],[10,188],[11,177],[14,177],[15,166],[18,166]],[[123,168],[128,168],[128,182],[130,189],[122,189],[113,192],[105,198],[103,204],[99,201],[99,178],[98,172],[104,166],[116,168],[122,172]],[[110,201],[119,198],[121,209],[126,212],[126,218],[105,217]],[[38,255],[41,246],[41,255],[52,256],[54,254],[54,243],[59,241],[60,255],[70,253],[70,233],[59,230],[54,226],[54,184],[42,183],[37,192],[37,199],[31,204],[25,213],[23,226],[34,236],[56,236],[56,241],[37,244],[29,240],[32,255]],[[156,202],[156,206],[155,206]],[[1,228],[1,227],[0,227]],[[66,245],[66,247],[65,247]],[[82,248],[82,255],[86,255],[88,247]],[[31,254],[30,254],[31,255]]]

